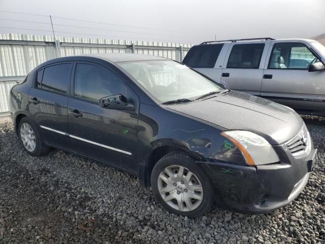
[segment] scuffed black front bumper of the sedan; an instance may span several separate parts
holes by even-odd
[[[209,175],[218,207],[240,212],[267,213],[293,201],[308,182],[317,149],[293,157],[282,144],[274,146],[280,162],[256,167],[207,160],[202,167]]]

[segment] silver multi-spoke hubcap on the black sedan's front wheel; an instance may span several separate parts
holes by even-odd
[[[158,191],[172,208],[187,212],[200,206],[203,187],[199,178],[182,166],[169,166],[159,174]]]

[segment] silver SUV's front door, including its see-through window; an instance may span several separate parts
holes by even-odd
[[[318,62],[309,43],[272,41],[267,59],[262,97],[296,109],[324,109],[325,72],[308,72]]]

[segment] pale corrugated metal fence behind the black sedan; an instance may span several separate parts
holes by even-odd
[[[56,48],[56,45],[58,48]],[[22,34],[0,34],[0,116],[8,114],[10,88],[36,66],[58,56],[139,53],[182,61],[191,44]]]

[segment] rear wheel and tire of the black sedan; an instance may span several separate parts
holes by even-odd
[[[36,125],[28,117],[23,117],[20,120],[18,125],[18,137],[23,148],[31,156],[36,157],[47,154],[50,149],[49,146],[42,142],[41,135]]]

